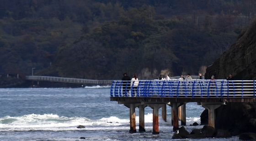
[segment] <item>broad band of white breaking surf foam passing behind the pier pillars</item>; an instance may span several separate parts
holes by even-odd
[[[145,114],[146,126],[151,126],[153,122],[152,113]],[[200,118],[187,118],[187,125],[197,122]],[[136,116],[136,124],[139,124],[139,116]],[[160,126],[171,126],[171,119],[167,122],[159,117]],[[77,129],[78,125],[85,125],[85,129]],[[122,130],[129,128],[129,119],[120,119],[115,116],[91,120],[85,117],[65,117],[54,114],[30,114],[17,117],[5,116],[0,118],[0,131],[68,131],[68,130]]]

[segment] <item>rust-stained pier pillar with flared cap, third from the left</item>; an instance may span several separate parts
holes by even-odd
[[[153,109],[153,134],[159,134],[159,108],[164,106],[163,104],[150,104],[149,107]]]

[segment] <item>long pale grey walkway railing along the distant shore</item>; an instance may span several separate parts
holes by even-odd
[[[27,80],[33,81],[50,81],[59,83],[75,83],[75,84],[112,84],[113,80],[92,80],[79,78],[62,78],[51,76],[26,76]]]

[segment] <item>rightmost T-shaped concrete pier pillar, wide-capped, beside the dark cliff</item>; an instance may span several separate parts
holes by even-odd
[[[208,109],[208,125],[215,128],[215,109],[224,103],[202,103],[203,108]]]

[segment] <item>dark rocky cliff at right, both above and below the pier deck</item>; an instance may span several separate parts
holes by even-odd
[[[225,79],[256,79],[256,21],[245,30],[235,44],[224,52],[213,65],[209,66],[205,78],[215,75]],[[207,121],[206,121],[207,120]],[[208,112],[201,115],[202,123],[208,122]],[[256,132],[256,103],[228,103],[216,109],[216,129],[226,129],[232,135]]]

